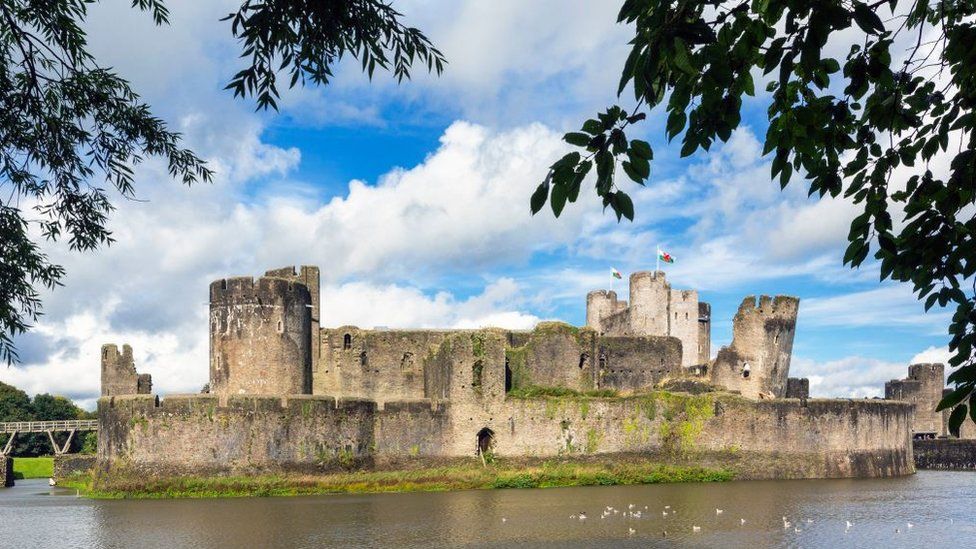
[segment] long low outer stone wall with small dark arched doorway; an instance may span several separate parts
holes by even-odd
[[[148,474],[314,471],[413,457],[755,452],[795,477],[910,474],[911,406],[749,401],[659,393],[622,399],[376,403],[326,396],[152,396],[99,400],[99,464]]]

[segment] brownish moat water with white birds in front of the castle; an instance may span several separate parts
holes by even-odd
[[[146,501],[86,500],[46,483],[18,481],[0,489],[0,546],[896,548],[971,547],[976,539],[971,472],[922,471],[889,480]],[[629,504],[643,516],[623,516]],[[608,505],[620,512],[601,519]],[[666,505],[674,511],[668,517],[661,514]],[[716,508],[724,512],[718,515]],[[571,518],[580,511],[586,520]],[[783,527],[784,515],[789,528]],[[849,530],[846,521],[853,523]],[[693,526],[701,531],[693,532]]]

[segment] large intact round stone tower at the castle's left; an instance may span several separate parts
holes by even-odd
[[[312,296],[285,278],[210,284],[210,392],[310,394]]]

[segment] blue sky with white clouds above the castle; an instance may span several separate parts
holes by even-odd
[[[111,247],[45,244],[64,286],[44,292],[44,316],[17,338],[22,363],[0,368],[30,394],[90,409],[104,343],[132,345],[155,392],[199,391],[208,283],[226,276],[319,265],[326,327],[527,329],[583,324],[586,292],[626,293],[658,246],[676,258],[672,286],[712,304],[713,353],[745,296],[800,297],[790,372],[815,396],[883,395],[909,363],[948,357],[948,312],[924,313],[871,261],[841,264],[852,205],[770,181],[762,95],[727,143],[684,159],[650,113],[632,137],[655,148],[651,180],[622,184],[634,222],[585,192],[558,220],[529,214],[547,166],[570,150],[561,135],[615,102],[633,107],[615,95],[632,32],[615,21],[619,0],[394,1],[447,57],[442,76],[371,82],[343,63],[326,88],[284,92],[278,113],[223,90],[243,66],[219,21],[235,1],[170,0],[162,28],[130,4],[92,7],[92,51],[217,176],[186,187],[147,162],[139,200],[116,197]]]

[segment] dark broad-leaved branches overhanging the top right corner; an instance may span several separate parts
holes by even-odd
[[[614,106],[567,133],[583,151],[551,166],[532,212],[548,200],[558,216],[595,162],[604,207],[632,219],[616,166],[643,185],[653,155],[624,128],[662,107],[682,157],[707,151],[739,126],[756,79],[768,79],[772,178],[783,187],[803,179],[810,194],[860,207],[845,264],[858,267],[873,251],[882,280],[911,282],[926,309],[955,307],[955,390],[939,409],[959,405],[957,432],[976,393],[974,16],[969,0],[625,0],[618,21],[633,25],[634,38],[618,95],[630,86],[638,112]],[[828,41],[847,55],[826,55]]]

